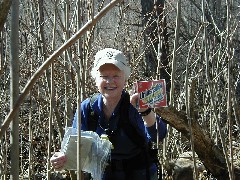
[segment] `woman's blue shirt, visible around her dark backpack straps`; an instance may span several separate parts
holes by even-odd
[[[122,98],[123,95],[126,92],[122,92]],[[121,98],[121,100],[122,100]],[[120,102],[116,106],[114,112],[112,113],[112,116],[107,121],[105,118],[105,115],[103,113],[103,98],[102,95],[99,94],[96,98],[96,100],[92,104],[92,109],[97,114],[98,117],[98,123],[97,123],[97,129],[96,133],[101,136],[102,134],[106,134],[106,129],[110,128],[111,130],[116,130],[119,114],[120,114]],[[90,103],[90,98],[87,98],[81,103],[81,129],[84,131],[89,130],[88,129],[88,105]],[[127,115],[127,114],[126,114]],[[124,116],[126,116],[124,115]],[[123,115],[121,115],[123,116]],[[142,116],[138,113],[138,110],[130,104],[129,109],[129,120],[131,125],[136,128],[136,130],[142,134],[142,136],[145,137],[146,142],[157,141],[157,135],[159,136],[159,140],[162,140],[167,133],[166,124],[161,120],[161,117],[156,115],[156,123],[151,127],[146,127],[144,125],[144,121],[142,119]],[[77,128],[77,113],[74,116],[73,125],[74,128]],[[157,127],[158,126],[158,134],[157,134]],[[144,142],[143,142],[144,143]],[[128,159],[131,157],[136,156],[141,151],[141,148],[138,147],[123,131],[123,129],[120,129],[116,132],[116,142],[114,143],[114,149],[111,151],[111,159],[116,160],[122,160],[122,159]],[[156,168],[152,166],[152,172],[156,171]]]

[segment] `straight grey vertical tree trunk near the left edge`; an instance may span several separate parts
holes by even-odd
[[[13,109],[19,97],[19,1],[13,0],[11,9],[11,34],[10,34],[10,77],[11,77],[11,101]],[[19,110],[11,123],[11,179],[19,179]]]

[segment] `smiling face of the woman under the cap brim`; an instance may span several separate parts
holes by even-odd
[[[125,74],[113,64],[104,64],[96,76],[98,90],[105,98],[121,96],[125,86]]]

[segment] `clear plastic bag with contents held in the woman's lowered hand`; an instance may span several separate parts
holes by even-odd
[[[82,171],[91,173],[93,179],[100,180],[111,153],[111,142],[101,139],[92,131],[81,131]],[[66,155],[65,169],[77,169],[77,129],[67,127],[61,144],[61,152]]]

